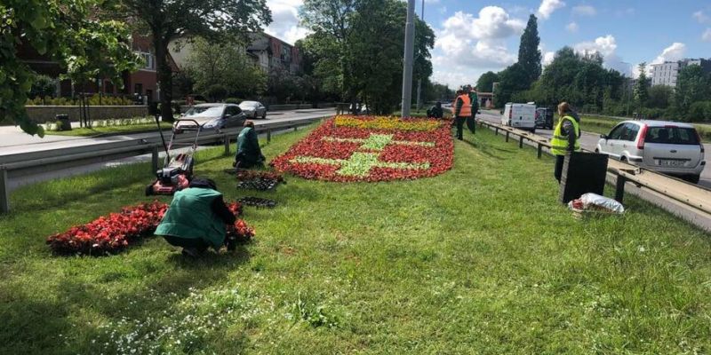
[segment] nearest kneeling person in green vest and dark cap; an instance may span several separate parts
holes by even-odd
[[[195,177],[187,189],[175,193],[155,234],[183,248],[184,256],[196,257],[209,247],[219,250],[226,242],[225,225],[235,221],[215,182]]]

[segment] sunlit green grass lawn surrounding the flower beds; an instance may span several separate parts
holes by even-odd
[[[305,130],[273,139],[268,157]],[[52,256],[46,236],[149,201],[147,164],[12,194],[0,217],[0,352],[708,353],[709,235],[627,197],[579,221],[551,159],[487,130],[439,177],[236,191],[232,158],[196,171],[245,208],[255,241],[190,261],[154,238],[123,254]],[[167,200],[166,200],[167,201]]]

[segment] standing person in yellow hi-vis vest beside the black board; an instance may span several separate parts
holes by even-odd
[[[580,151],[580,118],[567,102],[558,105],[558,124],[550,140],[550,153],[555,155],[555,179],[561,182],[563,161],[570,152]]]

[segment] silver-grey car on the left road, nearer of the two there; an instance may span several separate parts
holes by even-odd
[[[244,125],[244,112],[234,104],[200,104],[192,106],[180,119],[195,120],[203,130],[221,130],[228,127],[241,127]],[[195,126],[193,122],[180,121],[173,123],[173,129]]]

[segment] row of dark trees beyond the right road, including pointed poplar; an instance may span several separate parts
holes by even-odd
[[[588,113],[711,120],[711,74],[704,74],[699,66],[684,67],[675,88],[651,86],[645,63],[638,67],[639,78],[632,81],[605,68],[599,53],[582,54],[571,47],[557,51],[553,61],[542,68],[539,42],[537,19],[531,15],[521,36],[518,61],[499,73],[484,73],[477,88],[491,91],[493,83],[498,83],[494,91],[498,107],[507,102],[555,106],[567,101]]]

